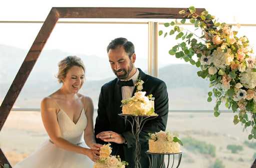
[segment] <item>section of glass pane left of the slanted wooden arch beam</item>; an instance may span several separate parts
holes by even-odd
[[[0,23],[0,104],[41,25]]]

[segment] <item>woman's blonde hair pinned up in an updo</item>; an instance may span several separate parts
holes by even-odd
[[[67,56],[58,63],[58,73],[57,78],[58,82],[62,83],[62,79],[66,77],[66,73],[73,66],[79,66],[85,71],[84,64],[81,58],[77,56]]]

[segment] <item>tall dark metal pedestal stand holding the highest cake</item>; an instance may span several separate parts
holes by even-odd
[[[146,121],[156,118],[158,115],[141,115],[141,116],[135,116],[135,115],[126,115],[126,114],[118,114],[121,118],[128,121],[131,125],[131,133],[135,137],[135,167],[134,168],[141,168],[141,165],[139,163],[140,159],[140,144],[139,144],[139,133],[141,132],[144,124]],[[128,118],[131,118],[131,121],[128,120]]]

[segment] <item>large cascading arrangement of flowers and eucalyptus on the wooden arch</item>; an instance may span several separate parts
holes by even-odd
[[[248,139],[256,139],[256,64],[247,37],[238,37],[231,25],[218,22],[206,10],[197,14],[191,6],[179,11],[179,14],[184,16],[181,24],[188,18],[196,29],[201,29],[202,34],[197,36],[188,30],[185,32],[177,25],[177,20],[164,23],[165,27],[173,26],[169,33],[164,33],[164,37],[176,33],[175,39],[181,39],[181,43],[173,46],[169,54],[200,67],[197,75],[209,79],[212,92],[208,92],[207,101],[212,101],[213,93],[216,97],[215,117],[220,115],[219,105],[225,103],[225,107],[238,112],[233,123],[240,122],[244,128],[251,127]],[[160,30],[159,35],[162,34]],[[195,54],[194,59],[192,56]]]

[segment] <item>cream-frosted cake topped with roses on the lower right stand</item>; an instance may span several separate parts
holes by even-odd
[[[178,139],[178,134],[160,131],[155,134],[148,134],[148,148],[150,153],[179,153],[182,142]]]

